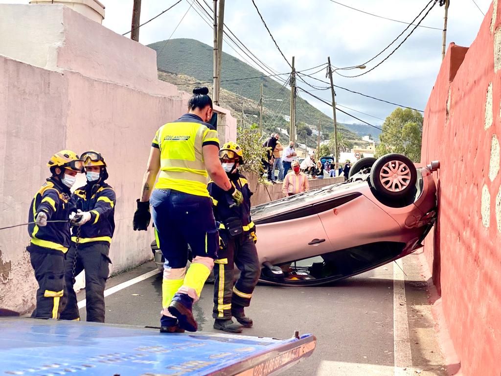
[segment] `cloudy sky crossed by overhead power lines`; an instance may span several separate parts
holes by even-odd
[[[130,30],[132,0],[100,1],[106,7],[104,26],[120,34]],[[202,0],[199,1],[202,3]],[[212,3],[211,0],[206,1]],[[336,1],[375,15],[410,22],[429,0]],[[150,19],[176,2],[177,0],[142,0],[141,21]],[[295,56],[298,71],[326,62],[327,56],[331,57],[331,62],[336,67],[362,64],[384,49],[407,26],[348,9],[331,0],[255,0],[255,2],[287,59],[291,61],[292,56]],[[457,45],[469,46],[474,40],[484,17],[481,12],[487,13],[491,4],[490,0],[475,0],[475,2],[481,11],[477,9],[473,0],[451,0],[447,44],[454,42]],[[0,3],[28,2],[0,0]],[[172,10],[142,27],[140,42],[149,44],[166,40],[175,30],[172,38],[193,38],[212,45],[212,30],[202,21],[195,12],[195,10],[199,13],[200,11],[192,7],[191,3],[192,0],[182,0]],[[444,8],[437,4],[421,25],[441,29],[443,16]],[[290,67],[261,23],[251,0],[226,0],[224,21],[238,39],[273,70],[279,73],[290,71]],[[423,110],[441,63],[441,45],[441,30],[418,27],[402,47],[381,66],[358,78],[335,75],[335,84]],[[369,63],[365,71],[379,63],[392,49]],[[228,44],[223,45],[223,50],[241,60]],[[346,73],[353,75],[363,72],[357,69]],[[325,80],[325,71],[315,76]],[[325,86],[313,80],[309,82]],[[312,89],[305,84],[300,86]],[[314,90],[312,93],[331,101],[330,91]],[[326,114],[332,115],[332,109],[327,105],[305,93],[300,92],[300,95]],[[337,90],[336,101],[351,108],[347,110],[348,112],[375,125],[382,123],[377,118],[384,119],[395,107],[340,89]],[[340,112],[337,116],[340,122],[358,122]]]

